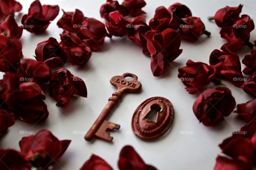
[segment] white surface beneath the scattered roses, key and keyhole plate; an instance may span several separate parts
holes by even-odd
[[[23,5],[22,13],[27,14],[28,8],[33,0],[19,0]],[[121,1],[119,1],[121,3]],[[169,0],[147,0],[146,7],[142,8],[147,12],[147,23],[154,16],[155,8],[158,6],[169,7],[176,1]],[[127,37],[113,37],[110,40],[106,37],[104,50],[93,52],[87,65],[78,67],[66,63],[64,68],[80,78],[86,78],[88,98],[73,97],[69,105],[62,109],[55,106],[55,101],[48,94],[48,86],[45,88],[47,94],[46,104],[49,110],[49,117],[41,124],[27,124],[21,121],[9,128],[6,135],[0,136],[1,148],[12,147],[19,150],[18,141],[26,135],[20,134],[20,130],[38,132],[41,129],[49,129],[52,133],[62,139],[72,139],[65,154],[54,164],[54,169],[78,170],[83,163],[89,159],[91,154],[96,154],[105,159],[114,169],[118,169],[117,161],[121,148],[125,145],[132,145],[141,155],[146,163],[161,169],[213,169],[215,157],[221,151],[218,144],[224,138],[229,137],[233,130],[238,130],[245,124],[237,119],[237,114],[232,113],[226,120],[215,128],[208,128],[194,116],[192,105],[198,94],[190,95],[184,89],[185,86],[179,81],[177,69],[185,66],[188,59],[208,63],[209,55],[214,49],[220,49],[225,43],[219,35],[220,28],[213,22],[207,20],[207,16],[214,15],[215,12],[226,5],[238,6],[242,3],[241,14],[247,14],[256,20],[255,1],[223,1],[223,0],[182,0],[179,1],[187,5],[193,16],[200,17],[205,23],[207,31],[211,32],[211,37],[202,35],[195,43],[185,40],[181,43],[182,54],[172,63],[169,69],[161,76],[154,77],[150,70],[150,58],[142,54],[142,48],[133,44]],[[99,8],[105,0],[44,0],[43,4],[59,5],[65,11],[80,9],[85,16],[93,17],[103,22],[100,18]],[[23,14],[16,14],[21,19]],[[56,23],[61,18],[63,12],[60,11],[57,18],[50,24],[46,32],[34,35],[26,30],[23,31],[20,39],[23,45],[23,54],[26,58],[34,58],[34,50],[37,44],[49,37],[54,37],[58,41],[59,33],[62,29]],[[20,24],[19,19],[17,19]],[[252,39],[256,39],[256,31],[251,32]],[[238,51],[240,60],[249,54],[250,50],[243,47]],[[242,64],[242,69],[244,65]],[[53,70],[54,71],[54,70]],[[142,92],[139,94],[127,94],[119,103],[109,118],[109,121],[120,124],[118,131],[111,131],[114,137],[113,143],[108,143],[96,139],[94,142],[86,142],[84,134],[73,134],[74,130],[87,131],[99,113],[107,104],[108,98],[115,88],[111,86],[109,80],[114,75],[122,75],[130,72],[140,78]],[[224,82],[224,86],[231,88],[237,104],[244,103],[252,98],[243,92],[242,88],[233,87],[229,82]],[[210,84],[208,87],[215,87]],[[127,134],[131,130],[131,118],[133,112],[142,101],[149,97],[162,96],[169,99],[175,109],[175,122],[169,134],[153,142],[141,141],[133,134]],[[193,131],[192,135],[180,134],[181,130]]]

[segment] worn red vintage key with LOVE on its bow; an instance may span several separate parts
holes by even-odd
[[[131,77],[132,79],[127,81],[126,77]],[[113,137],[110,136],[109,132],[106,130],[119,129],[120,125],[109,122],[106,118],[112,112],[115,105],[122,98],[125,92],[139,92],[141,90],[141,83],[138,82],[138,77],[131,73],[124,73],[121,76],[114,76],[110,79],[110,83],[117,88],[117,91],[112,94],[109,98],[109,103],[103,109],[97,120],[94,122],[93,126],[85,135],[85,140],[90,141],[94,137],[104,139],[111,142]]]

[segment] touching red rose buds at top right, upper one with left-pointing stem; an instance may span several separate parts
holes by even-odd
[[[228,43],[222,45],[221,49],[226,52],[235,52],[243,45],[253,48],[253,44],[249,42],[250,32],[254,29],[253,20],[248,15],[241,15],[243,5],[237,7],[229,7],[219,9],[214,17],[216,24],[221,27],[219,32],[221,37]]]

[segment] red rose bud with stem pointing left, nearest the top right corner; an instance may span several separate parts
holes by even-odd
[[[215,20],[215,23],[219,27],[231,26],[235,23],[235,21],[239,18],[239,14],[242,11],[243,5],[239,5],[237,7],[229,7],[219,9],[214,17],[209,17],[209,20]]]

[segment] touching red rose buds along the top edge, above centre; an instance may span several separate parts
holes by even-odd
[[[101,18],[104,17],[105,14],[109,14],[110,12],[118,11],[122,16],[139,16],[146,14],[145,11],[142,11],[146,5],[144,0],[124,0],[122,5],[119,5],[118,1],[107,0],[107,2],[101,5],[100,14]]]

